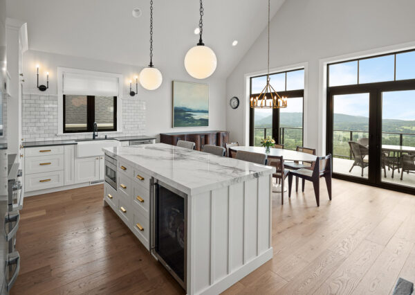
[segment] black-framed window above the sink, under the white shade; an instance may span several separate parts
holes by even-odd
[[[117,130],[116,96],[64,95],[64,133]]]

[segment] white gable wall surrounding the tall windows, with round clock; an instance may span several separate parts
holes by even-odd
[[[270,67],[308,64],[307,113],[304,115],[304,145],[325,147],[325,93],[320,80],[322,60],[339,55],[414,42],[413,0],[288,0],[271,21]],[[266,15],[264,15],[266,17]],[[241,107],[227,107],[230,139],[243,143],[244,117],[248,106],[244,75],[266,71],[266,30],[227,79],[227,99],[238,96]],[[319,94],[320,91],[320,94]],[[248,118],[246,118],[248,123]],[[246,127],[246,125],[245,125]]]

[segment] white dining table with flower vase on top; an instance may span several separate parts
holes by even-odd
[[[258,154],[266,154],[268,158],[283,157],[284,161],[298,161],[298,162],[314,162],[317,156],[314,154],[307,154],[306,152],[297,152],[296,150],[286,150],[281,148],[270,147],[269,152],[266,151],[265,147],[254,147],[254,146],[234,146],[229,147],[228,157],[232,157],[232,151],[238,152],[243,150],[245,152],[256,152]],[[284,192],[286,188],[284,188]],[[281,193],[281,185],[273,185],[273,192]]]

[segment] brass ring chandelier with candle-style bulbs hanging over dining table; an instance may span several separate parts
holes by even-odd
[[[267,98],[268,93],[270,97]],[[250,107],[255,109],[283,109],[287,107],[287,98],[279,96],[270,84],[270,0],[268,0],[268,73],[266,74],[266,85],[259,96],[250,98]]]

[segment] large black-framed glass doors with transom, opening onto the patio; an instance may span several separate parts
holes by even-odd
[[[328,65],[333,175],[415,192],[415,51]]]

